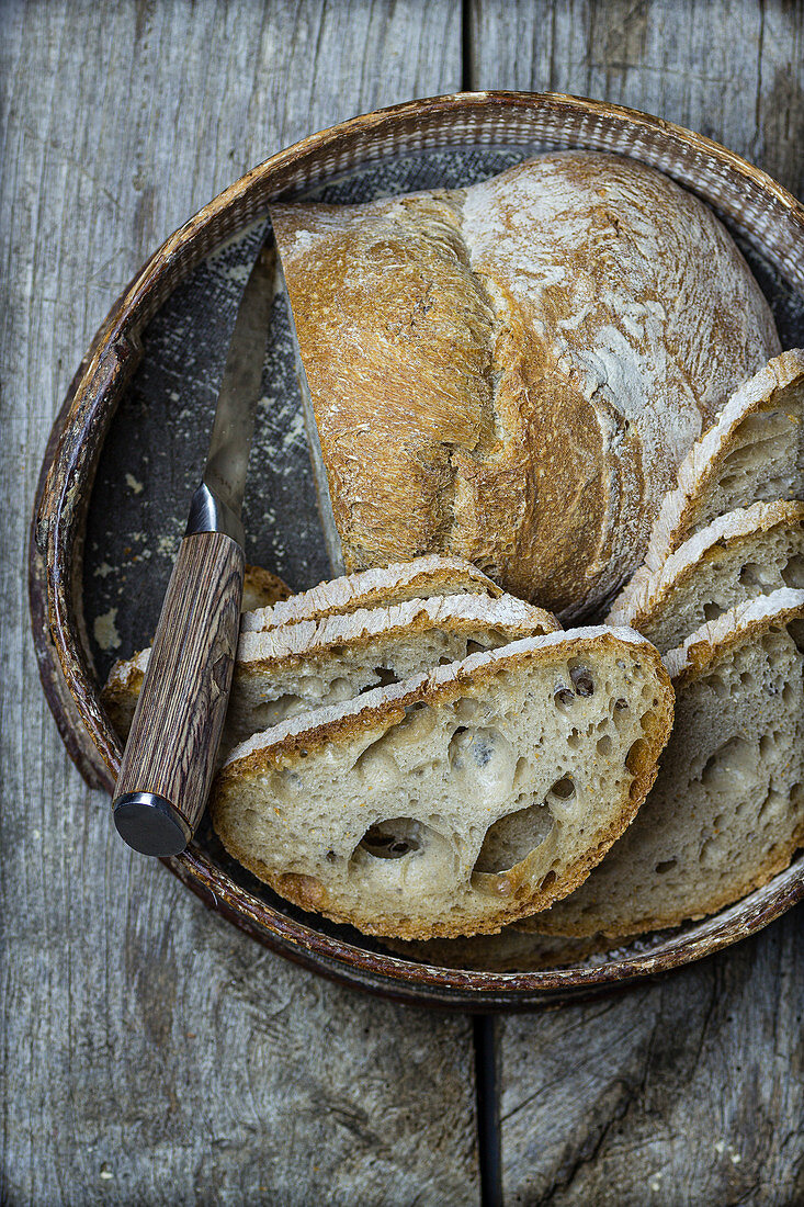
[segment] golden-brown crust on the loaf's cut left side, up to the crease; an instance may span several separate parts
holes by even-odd
[[[450,455],[491,435],[494,316],[453,206],[278,205],[272,220],[346,568],[444,548]]]

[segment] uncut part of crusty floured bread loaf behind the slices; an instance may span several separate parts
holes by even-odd
[[[635,161],[555,152],[272,218],[346,568],[450,552],[588,612],[642,561],[701,428],[779,351],[717,218]]]

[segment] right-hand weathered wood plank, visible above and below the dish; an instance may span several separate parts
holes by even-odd
[[[804,6],[471,0],[472,87],[658,113],[804,191]],[[802,911],[664,984],[500,1021],[506,1203],[804,1201]]]

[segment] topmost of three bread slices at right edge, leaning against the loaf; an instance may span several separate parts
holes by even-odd
[[[658,571],[693,532],[755,502],[804,497],[804,349],[775,356],[728,401],[678,468],[651,530]]]

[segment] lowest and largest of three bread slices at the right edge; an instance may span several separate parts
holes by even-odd
[[[764,885],[804,840],[804,591],[733,608],[665,655],[676,721],[639,817],[541,932],[635,934]]]

